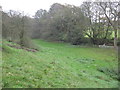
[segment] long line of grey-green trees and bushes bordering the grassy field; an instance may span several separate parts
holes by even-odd
[[[33,38],[117,47],[119,7],[120,2],[83,2],[80,7],[54,3],[49,11],[40,9],[34,17],[2,11],[2,36],[26,47],[32,47]]]

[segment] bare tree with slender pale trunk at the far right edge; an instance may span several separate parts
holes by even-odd
[[[99,2],[98,5],[102,8],[105,17],[114,29],[114,47],[117,48],[120,2]]]

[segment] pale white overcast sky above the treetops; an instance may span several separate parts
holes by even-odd
[[[28,15],[34,15],[39,9],[49,10],[53,3],[71,4],[80,6],[84,0],[0,0],[3,11],[24,11]]]

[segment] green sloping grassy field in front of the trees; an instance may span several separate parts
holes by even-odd
[[[3,87],[114,88],[118,61],[113,49],[34,40],[38,52],[3,45]],[[5,44],[8,42],[5,42]]]

